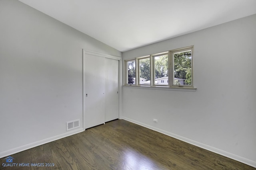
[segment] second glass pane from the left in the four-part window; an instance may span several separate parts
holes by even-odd
[[[150,59],[140,59],[140,84],[150,84]]]

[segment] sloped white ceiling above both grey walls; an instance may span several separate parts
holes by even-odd
[[[256,14],[256,0],[20,0],[128,51]]]

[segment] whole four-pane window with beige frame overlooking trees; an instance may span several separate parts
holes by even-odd
[[[193,48],[185,47],[125,61],[126,84],[194,88]]]

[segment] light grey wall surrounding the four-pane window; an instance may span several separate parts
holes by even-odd
[[[123,87],[123,119],[256,167],[255,28],[253,15],[124,52],[131,59],[194,45],[197,90]]]

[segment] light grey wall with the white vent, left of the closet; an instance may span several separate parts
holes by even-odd
[[[88,25],[90,26],[90,25]],[[0,1],[0,158],[82,128],[82,49],[112,47],[17,1]]]

